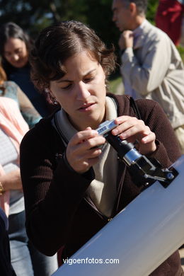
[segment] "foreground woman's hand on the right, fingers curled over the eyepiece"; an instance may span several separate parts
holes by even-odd
[[[138,142],[136,149],[140,154],[151,154],[156,150],[155,134],[137,117],[120,116],[115,119],[118,126],[112,130],[112,134],[119,135],[127,142]]]

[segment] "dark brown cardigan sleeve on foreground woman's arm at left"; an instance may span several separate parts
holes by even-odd
[[[52,151],[54,138],[48,142],[49,132],[40,134],[38,128],[39,124],[21,143],[26,229],[39,251],[54,255],[67,239],[72,218],[94,173],[92,169],[84,175],[69,170],[63,155]],[[55,130],[52,132],[50,137],[54,137]],[[60,139],[57,142],[61,144]],[[58,161],[55,156],[60,156]]]

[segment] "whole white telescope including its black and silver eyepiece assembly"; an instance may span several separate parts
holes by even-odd
[[[184,243],[184,155],[161,168],[111,134],[114,127],[106,121],[97,131],[145,189],[52,276],[148,276]]]

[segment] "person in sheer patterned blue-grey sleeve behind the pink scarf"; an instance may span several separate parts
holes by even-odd
[[[24,120],[33,127],[42,118],[28,97],[14,81],[7,81],[6,73],[0,63],[0,96],[12,98],[18,103]]]

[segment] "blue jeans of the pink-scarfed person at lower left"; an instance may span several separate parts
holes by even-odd
[[[17,276],[50,276],[57,270],[57,256],[47,257],[28,240],[25,211],[8,217],[11,264]],[[45,241],[46,242],[46,241]]]

